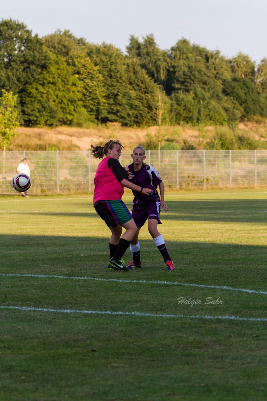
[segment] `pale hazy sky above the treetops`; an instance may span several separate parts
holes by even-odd
[[[4,4],[3,4],[4,3]],[[125,51],[130,34],[153,33],[161,49],[182,37],[225,57],[267,57],[267,0],[1,0],[0,17],[40,37],[68,29],[90,43]]]

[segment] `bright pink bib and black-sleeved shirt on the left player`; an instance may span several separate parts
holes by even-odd
[[[96,169],[94,177],[94,206],[100,201],[120,200],[124,189],[120,181],[128,177],[128,172],[117,159],[105,157]]]

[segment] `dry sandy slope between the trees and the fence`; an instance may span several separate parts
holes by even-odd
[[[255,139],[265,139],[267,125],[254,123],[239,124],[239,129],[247,132]],[[196,148],[203,148],[204,143],[214,134],[214,127],[205,127],[202,130],[189,126],[162,127],[164,138],[179,138],[187,140]],[[102,145],[110,139],[122,141],[125,150],[132,150],[136,145],[148,142],[148,134],[152,137],[158,133],[158,127],[126,128],[120,124],[109,123],[106,126],[90,129],[75,127],[49,128],[17,128],[18,135],[12,139],[7,150],[88,150],[90,145]]]

